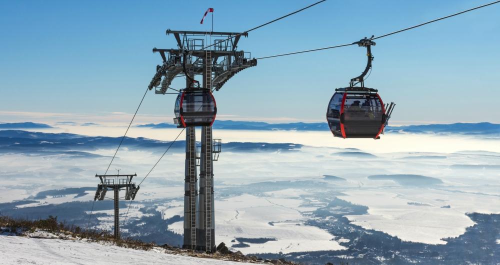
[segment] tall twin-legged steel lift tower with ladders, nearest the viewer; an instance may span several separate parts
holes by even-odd
[[[156,94],[165,94],[175,77],[186,77],[186,87],[181,89],[177,96],[176,117],[174,118],[174,123],[178,127],[186,128],[184,241],[182,247],[213,252],[215,238],[212,164],[220,152],[220,139],[212,138],[211,124],[215,119],[216,106],[211,92],[218,91],[234,74],[255,66],[257,61],[250,59],[249,52],[236,50],[240,37],[248,36],[247,32],[167,29],[166,34],[172,34],[175,37],[177,47],[153,48],[153,52],[158,52],[161,55],[162,64],[156,66],[156,73],[148,88],[154,88]],[[213,45],[209,46],[210,44]],[[205,46],[209,47],[204,48]],[[201,77],[201,85],[196,80],[196,76]],[[184,105],[182,105],[183,102]],[[210,106],[213,107],[211,112],[205,110],[209,109]],[[202,108],[201,111],[200,108]],[[211,121],[209,118],[207,120],[206,117],[211,118]],[[199,155],[197,155],[195,141],[195,126],[201,126]],[[199,194],[196,177],[197,158],[199,158],[200,171]]]

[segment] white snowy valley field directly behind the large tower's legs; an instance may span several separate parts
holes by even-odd
[[[291,191],[288,189],[287,191]],[[306,192],[303,192],[306,193]],[[215,201],[215,240],[224,242],[229,249],[249,253],[290,253],[300,251],[339,250],[345,247],[335,236],[323,229],[305,225],[307,217],[301,214],[319,207],[301,207],[300,198],[291,198],[285,192],[267,193],[265,196],[243,194]],[[288,193],[290,194],[290,193]],[[291,193],[297,194],[297,193]],[[298,193],[300,194],[300,193]],[[183,207],[163,210],[164,217],[182,215]],[[182,233],[183,222],[168,225],[168,229]],[[249,243],[246,247],[231,247],[236,238],[271,238],[262,243]]]

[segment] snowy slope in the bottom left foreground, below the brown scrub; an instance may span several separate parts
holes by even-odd
[[[0,264],[248,264],[167,254],[158,248],[144,251],[80,240],[6,235],[0,235],[0,256]]]

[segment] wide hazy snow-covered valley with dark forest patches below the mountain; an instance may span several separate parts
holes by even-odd
[[[0,131],[1,214],[51,214],[82,226],[90,217],[90,227],[112,229],[110,201],[97,201],[89,213],[93,175],[107,166],[118,138],[15,133]],[[275,139],[281,132],[266,133]],[[322,264],[498,262],[500,140],[433,135],[426,141],[430,135],[397,133],[383,140],[391,137],[419,141],[421,149],[440,138],[489,147],[424,152],[402,145],[384,152],[373,145],[302,145],[312,140],[299,137],[294,143],[226,142],[214,164],[216,243]],[[140,181],[167,144],[127,138],[113,166],[137,172]],[[128,214],[128,204],[120,203],[125,236],[182,244],[183,159],[179,142],[141,185]]]

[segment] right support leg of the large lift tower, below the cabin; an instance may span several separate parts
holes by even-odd
[[[197,249],[213,252],[214,237],[214,205],[213,205],[213,160],[212,160],[212,127],[201,127],[201,155],[199,173]]]

